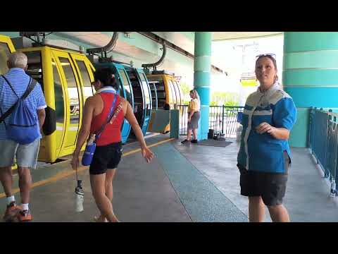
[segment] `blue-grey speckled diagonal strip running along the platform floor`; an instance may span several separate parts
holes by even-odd
[[[248,222],[246,215],[172,144],[153,150],[193,222]]]

